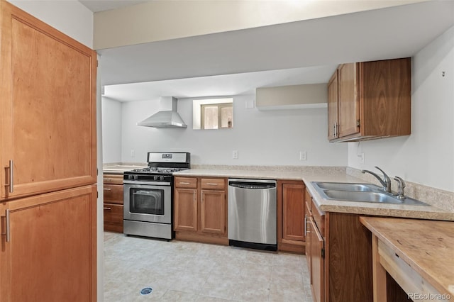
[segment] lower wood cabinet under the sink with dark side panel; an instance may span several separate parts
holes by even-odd
[[[306,259],[314,301],[372,301],[372,242],[358,214],[320,211],[306,197]]]

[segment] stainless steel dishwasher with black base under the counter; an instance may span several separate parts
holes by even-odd
[[[228,179],[228,244],[277,250],[276,181]]]

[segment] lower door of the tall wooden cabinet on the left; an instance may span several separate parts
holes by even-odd
[[[96,301],[96,186],[21,198],[7,207],[1,301]]]

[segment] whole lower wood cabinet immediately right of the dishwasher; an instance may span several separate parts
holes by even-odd
[[[277,249],[287,252],[304,253],[303,181],[277,181]]]

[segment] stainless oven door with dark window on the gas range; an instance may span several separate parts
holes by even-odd
[[[172,223],[172,189],[160,184],[124,183],[123,219]]]

